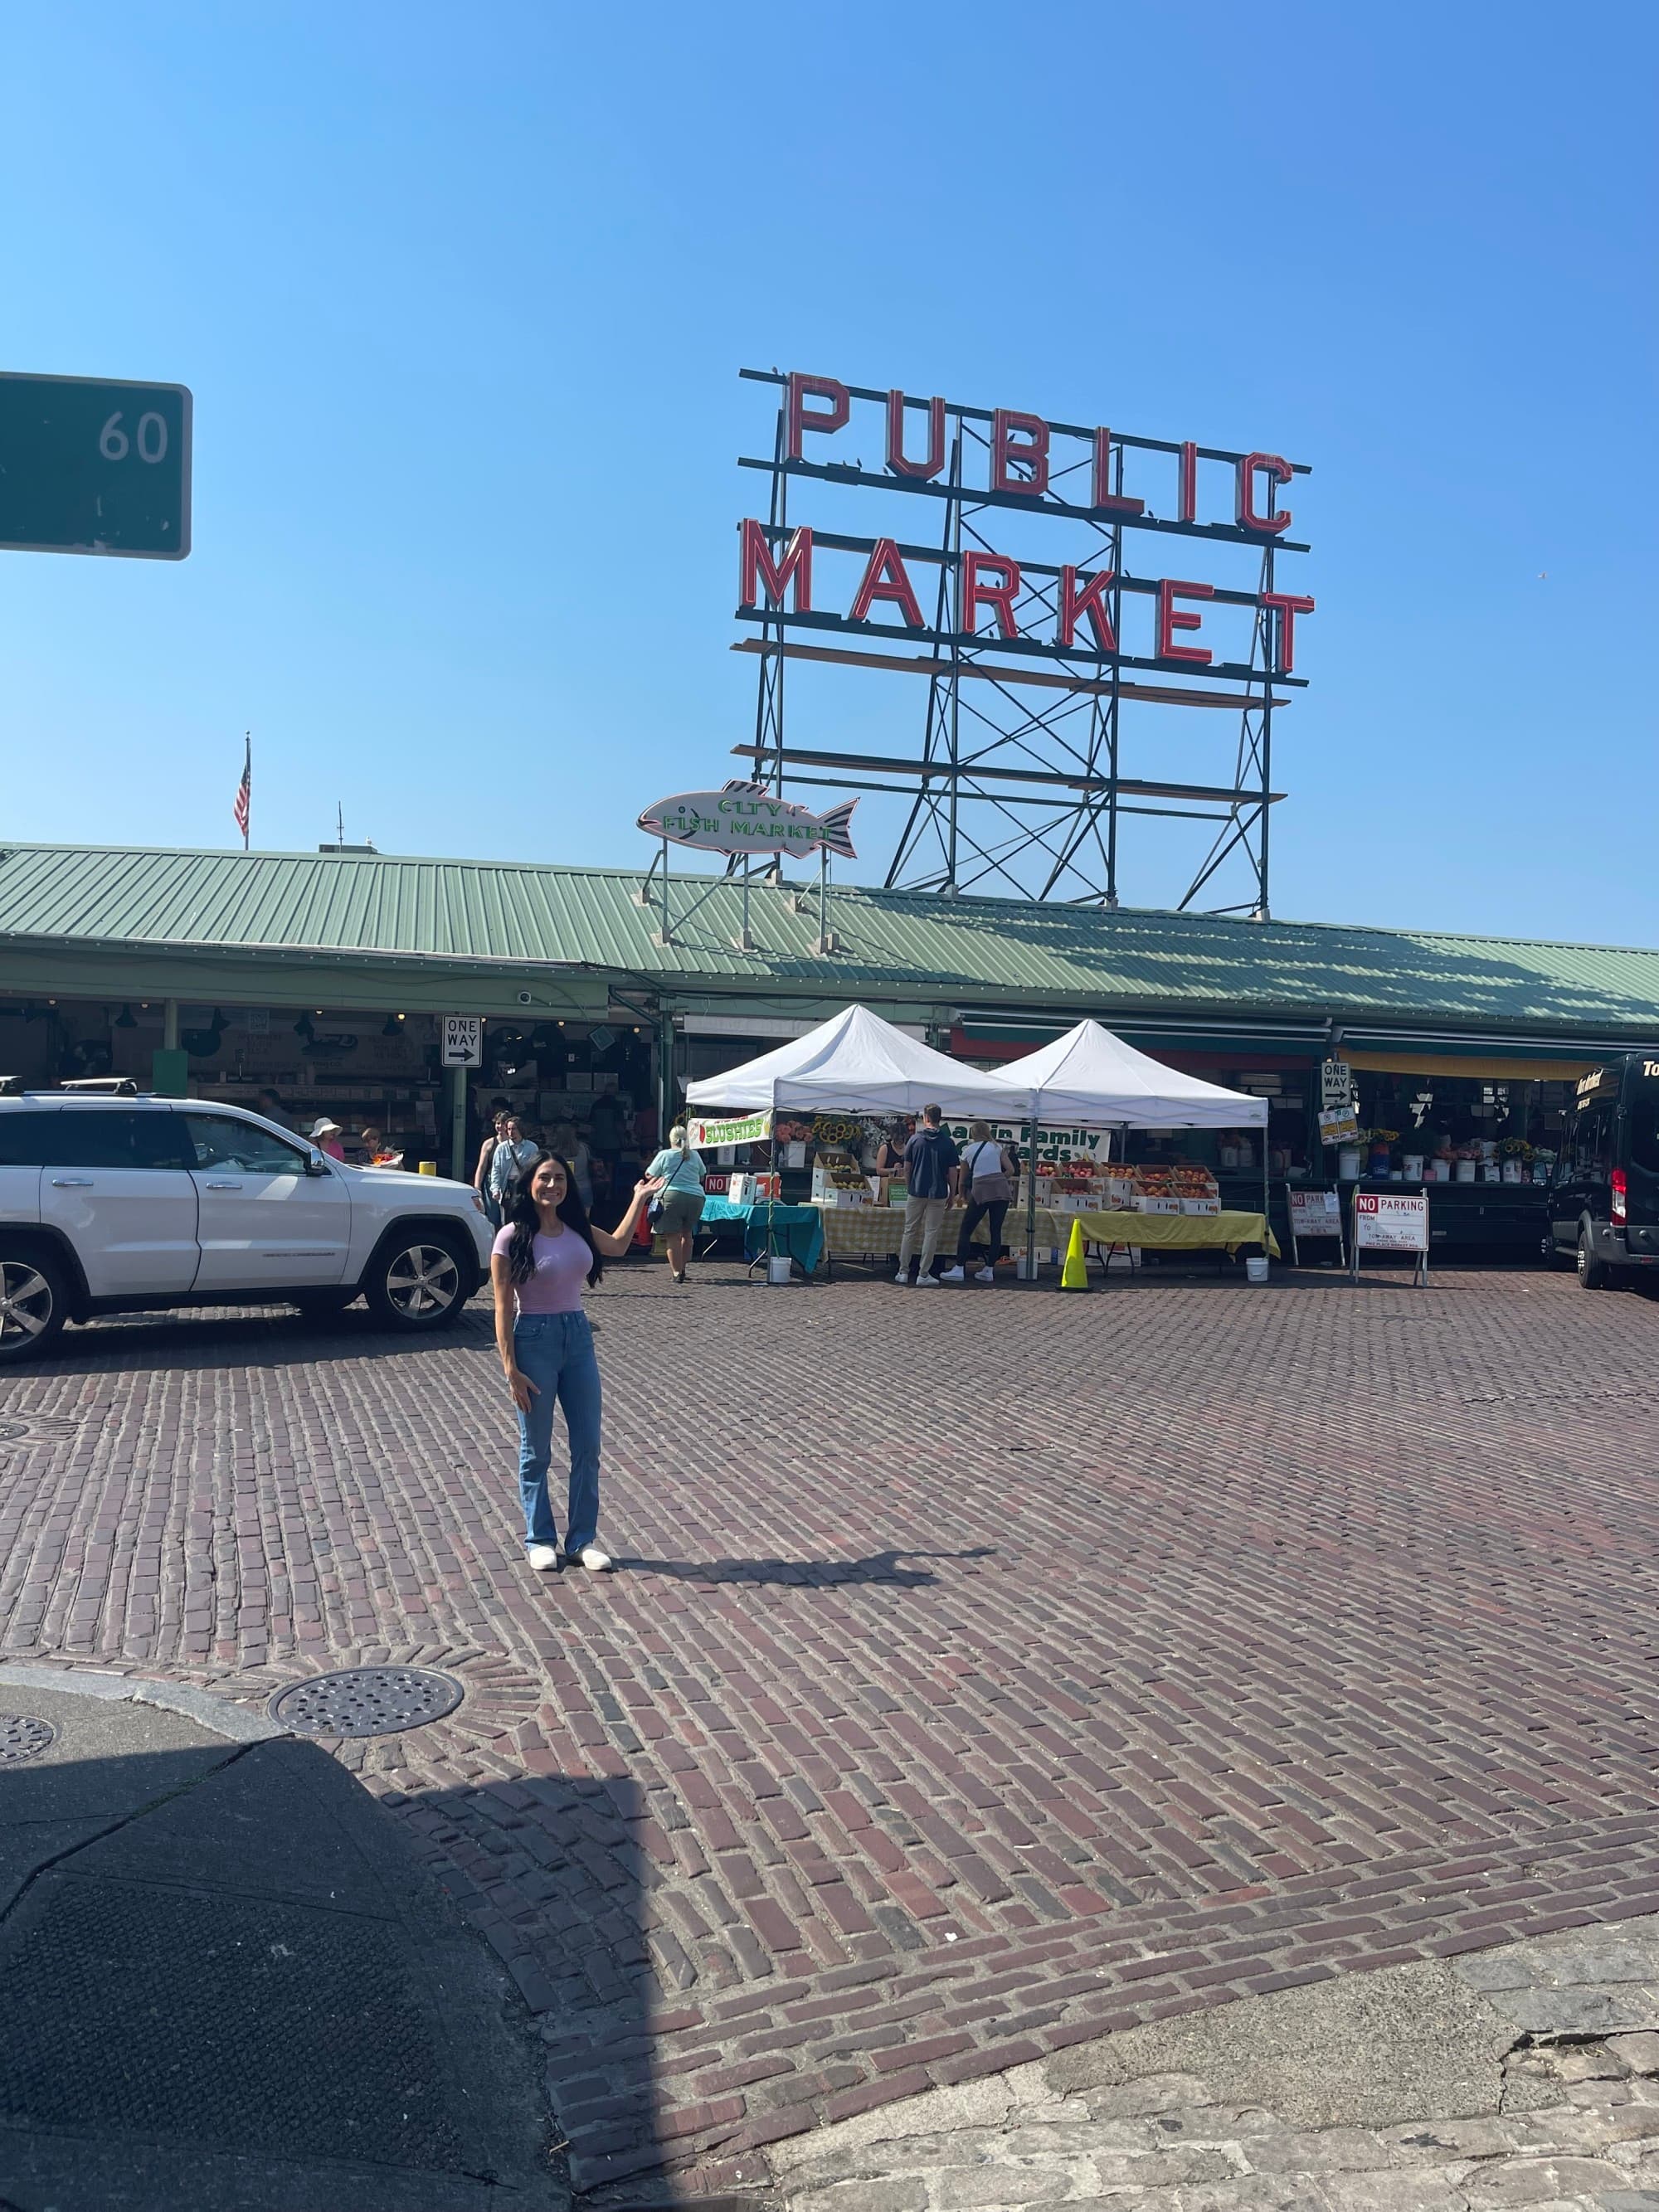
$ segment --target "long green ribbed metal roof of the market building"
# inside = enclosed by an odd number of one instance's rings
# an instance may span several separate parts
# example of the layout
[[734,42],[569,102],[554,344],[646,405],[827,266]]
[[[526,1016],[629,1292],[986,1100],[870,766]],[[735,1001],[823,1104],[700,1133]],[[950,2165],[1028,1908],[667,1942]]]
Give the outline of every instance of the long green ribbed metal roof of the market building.
[[[712,880],[675,878],[677,911]],[[637,869],[502,860],[13,845],[0,849],[0,984],[7,942],[168,947],[473,969],[551,962],[721,998],[1252,1011],[1659,1037],[1659,951],[834,887],[841,949],[821,958],[816,885],[803,885],[750,894],[745,953],[734,949],[737,885],[714,880],[664,947],[659,909],[639,905],[644,883]]]

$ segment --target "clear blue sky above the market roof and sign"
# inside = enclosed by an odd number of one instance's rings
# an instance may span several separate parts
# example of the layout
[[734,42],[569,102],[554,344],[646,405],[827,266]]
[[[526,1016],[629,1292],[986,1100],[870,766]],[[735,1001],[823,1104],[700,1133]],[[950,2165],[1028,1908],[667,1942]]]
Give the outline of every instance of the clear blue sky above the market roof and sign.
[[[230,845],[252,728],[259,845],[343,803],[644,865],[639,807],[750,734],[737,369],[783,365],[1312,462],[1274,911],[1659,942],[1655,42],[1533,0],[15,11],[0,367],[188,383],[197,458],[188,562],[0,557],[0,836]],[[916,750],[909,677],[799,699],[796,741]],[[1179,721],[1126,772],[1208,781]],[[1126,845],[1126,902],[1181,858]]]

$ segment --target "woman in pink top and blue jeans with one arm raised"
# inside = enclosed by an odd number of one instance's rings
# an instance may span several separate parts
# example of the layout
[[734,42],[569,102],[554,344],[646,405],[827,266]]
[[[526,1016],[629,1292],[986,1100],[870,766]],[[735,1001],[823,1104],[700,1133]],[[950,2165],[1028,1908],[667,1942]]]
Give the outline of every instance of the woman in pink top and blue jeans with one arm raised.
[[[588,1221],[566,1161],[551,1157],[520,1181],[495,1234],[489,1279],[495,1292],[495,1347],[518,1407],[518,1489],[524,1500],[524,1544],[542,1573],[580,1559],[593,1573],[611,1566],[599,1551],[599,1363],[582,1312],[582,1285],[597,1283],[606,1259],[622,1259],[639,1208],[657,1183],[635,1183],[615,1234]],[[564,1407],[571,1440],[571,1495],[564,1546],[546,1495],[553,1460],[553,1405]]]

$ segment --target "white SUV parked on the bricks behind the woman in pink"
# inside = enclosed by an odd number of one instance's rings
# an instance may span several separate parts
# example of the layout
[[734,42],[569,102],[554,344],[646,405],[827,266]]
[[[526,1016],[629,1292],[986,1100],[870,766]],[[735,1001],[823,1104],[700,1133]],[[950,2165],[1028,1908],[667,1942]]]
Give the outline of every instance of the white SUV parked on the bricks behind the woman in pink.
[[274,1121],[197,1099],[0,1097],[0,1365],[64,1321],[283,1298],[453,1321],[489,1270],[467,1183],[343,1168]]

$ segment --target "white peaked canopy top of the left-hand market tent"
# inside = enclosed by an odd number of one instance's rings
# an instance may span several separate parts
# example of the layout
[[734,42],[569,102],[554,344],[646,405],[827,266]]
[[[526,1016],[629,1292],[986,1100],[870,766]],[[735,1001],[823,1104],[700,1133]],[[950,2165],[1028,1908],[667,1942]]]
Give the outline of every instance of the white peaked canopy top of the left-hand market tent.
[[1009,1113],[998,1077],[947,1060],[869,1006],[847,1006],[774,1053],[688,1084],[686,1099],[748,1113],[920,1113],[922,1106],[942,1106],[953,1119]]

